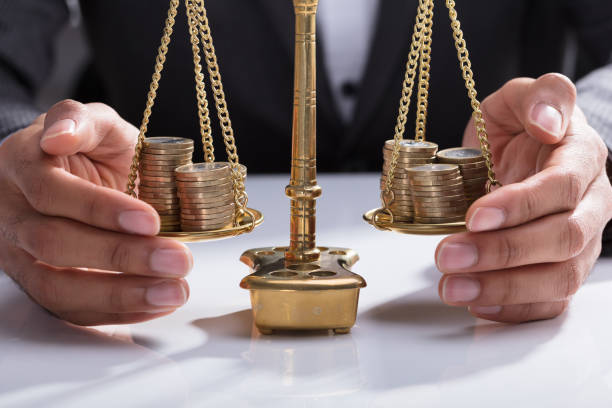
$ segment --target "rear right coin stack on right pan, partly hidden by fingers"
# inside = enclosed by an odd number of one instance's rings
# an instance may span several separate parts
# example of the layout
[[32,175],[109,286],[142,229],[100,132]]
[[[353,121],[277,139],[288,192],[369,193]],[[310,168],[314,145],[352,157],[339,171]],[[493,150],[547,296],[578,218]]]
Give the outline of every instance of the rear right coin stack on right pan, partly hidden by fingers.
[[440,163],[459,166],[468,207],[486,193],[489,171],[482,151],[456,147],[438,152],[437,157]]

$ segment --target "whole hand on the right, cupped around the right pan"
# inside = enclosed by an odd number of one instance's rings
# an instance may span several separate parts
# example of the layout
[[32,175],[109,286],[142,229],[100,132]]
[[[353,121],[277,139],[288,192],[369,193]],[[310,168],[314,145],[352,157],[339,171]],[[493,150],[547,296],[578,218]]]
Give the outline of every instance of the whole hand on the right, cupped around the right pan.
[[[499,322],[561,314],[601,252],[612,218],[607,148],[559,74],[508,82],[482,103],[503,187],[469,209],[469,232],[436,250],[440,297]],[[464,145],[479,147],[473,120]]]

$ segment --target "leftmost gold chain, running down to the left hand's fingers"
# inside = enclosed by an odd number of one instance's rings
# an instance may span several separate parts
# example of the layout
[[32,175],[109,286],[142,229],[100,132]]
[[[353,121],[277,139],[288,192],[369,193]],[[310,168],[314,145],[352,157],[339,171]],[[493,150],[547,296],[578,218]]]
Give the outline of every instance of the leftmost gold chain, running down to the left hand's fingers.
[[153,105],[155,104],[155,98],[157,97],[157,89],[159,88],[159,80],[161,79],[161,73],[164,70],[164,63],[166,62],[166,54],[168,53],[168,45],[172,38],[173,27],[176,19],[177,10],[179,7],[179,0],[171,0],[170,8],[168,10],[168,17],[166,18],[164,34],[161,39],[161,45],[157,51],[157,58],[155,59],[155,72],[151,80],[149,87],[149,93],[147,95],[147,104],[145,107],[144,115],[142,118],[142,124],[140,125],[140,133],[138,134],[138,141],[134,148],[134,157],[132,157],[132,164],[130,166],[130,174],[128,176],[128,183],[126,188],[126,194],[136,197],[136,178],[138,177],[138,167],[140,165],[140,153],[142,151],[142,144],[144,143],[145,135],[149,126],[149,118]]

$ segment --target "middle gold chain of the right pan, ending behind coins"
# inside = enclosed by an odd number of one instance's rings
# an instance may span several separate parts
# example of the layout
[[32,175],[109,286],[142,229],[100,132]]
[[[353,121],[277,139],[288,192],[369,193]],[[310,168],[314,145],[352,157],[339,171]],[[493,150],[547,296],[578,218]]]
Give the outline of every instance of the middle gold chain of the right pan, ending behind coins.
[[427,12],[425,15],[425,21],[423,26],[423,35],[421,37],[421,58],[419,62],[419,93],[414,139],[420,142],[425,140],[425,130],[427,127],[427,98],[429,97],[429,70],[431,63],[433,9],[434,2],[433,0],[430,0],[427,5]]

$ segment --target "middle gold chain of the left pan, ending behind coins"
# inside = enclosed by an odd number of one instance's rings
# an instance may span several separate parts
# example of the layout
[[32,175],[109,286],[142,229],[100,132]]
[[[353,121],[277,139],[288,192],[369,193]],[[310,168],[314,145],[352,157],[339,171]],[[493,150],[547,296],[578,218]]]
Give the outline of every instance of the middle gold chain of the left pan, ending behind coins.
[[215,161],[215,148],[213,146],[212,129],[210,127],[210,113],[208,110],[208,99],[206,98],[206,85],[204,84],[204,74],[202,74],[202,58],[200,57],[201,48],[198,38],[199,30],[197,25],[197,11],[193,0],[185,0],[187,9],[187,22],[189,24],[189,34],[191,36],[191,49],[193,51],[193,64],[196,81],[196,94],[198,100],[198,116],[200,118],[200,135],[204,151],[204,161],[212,163]]

